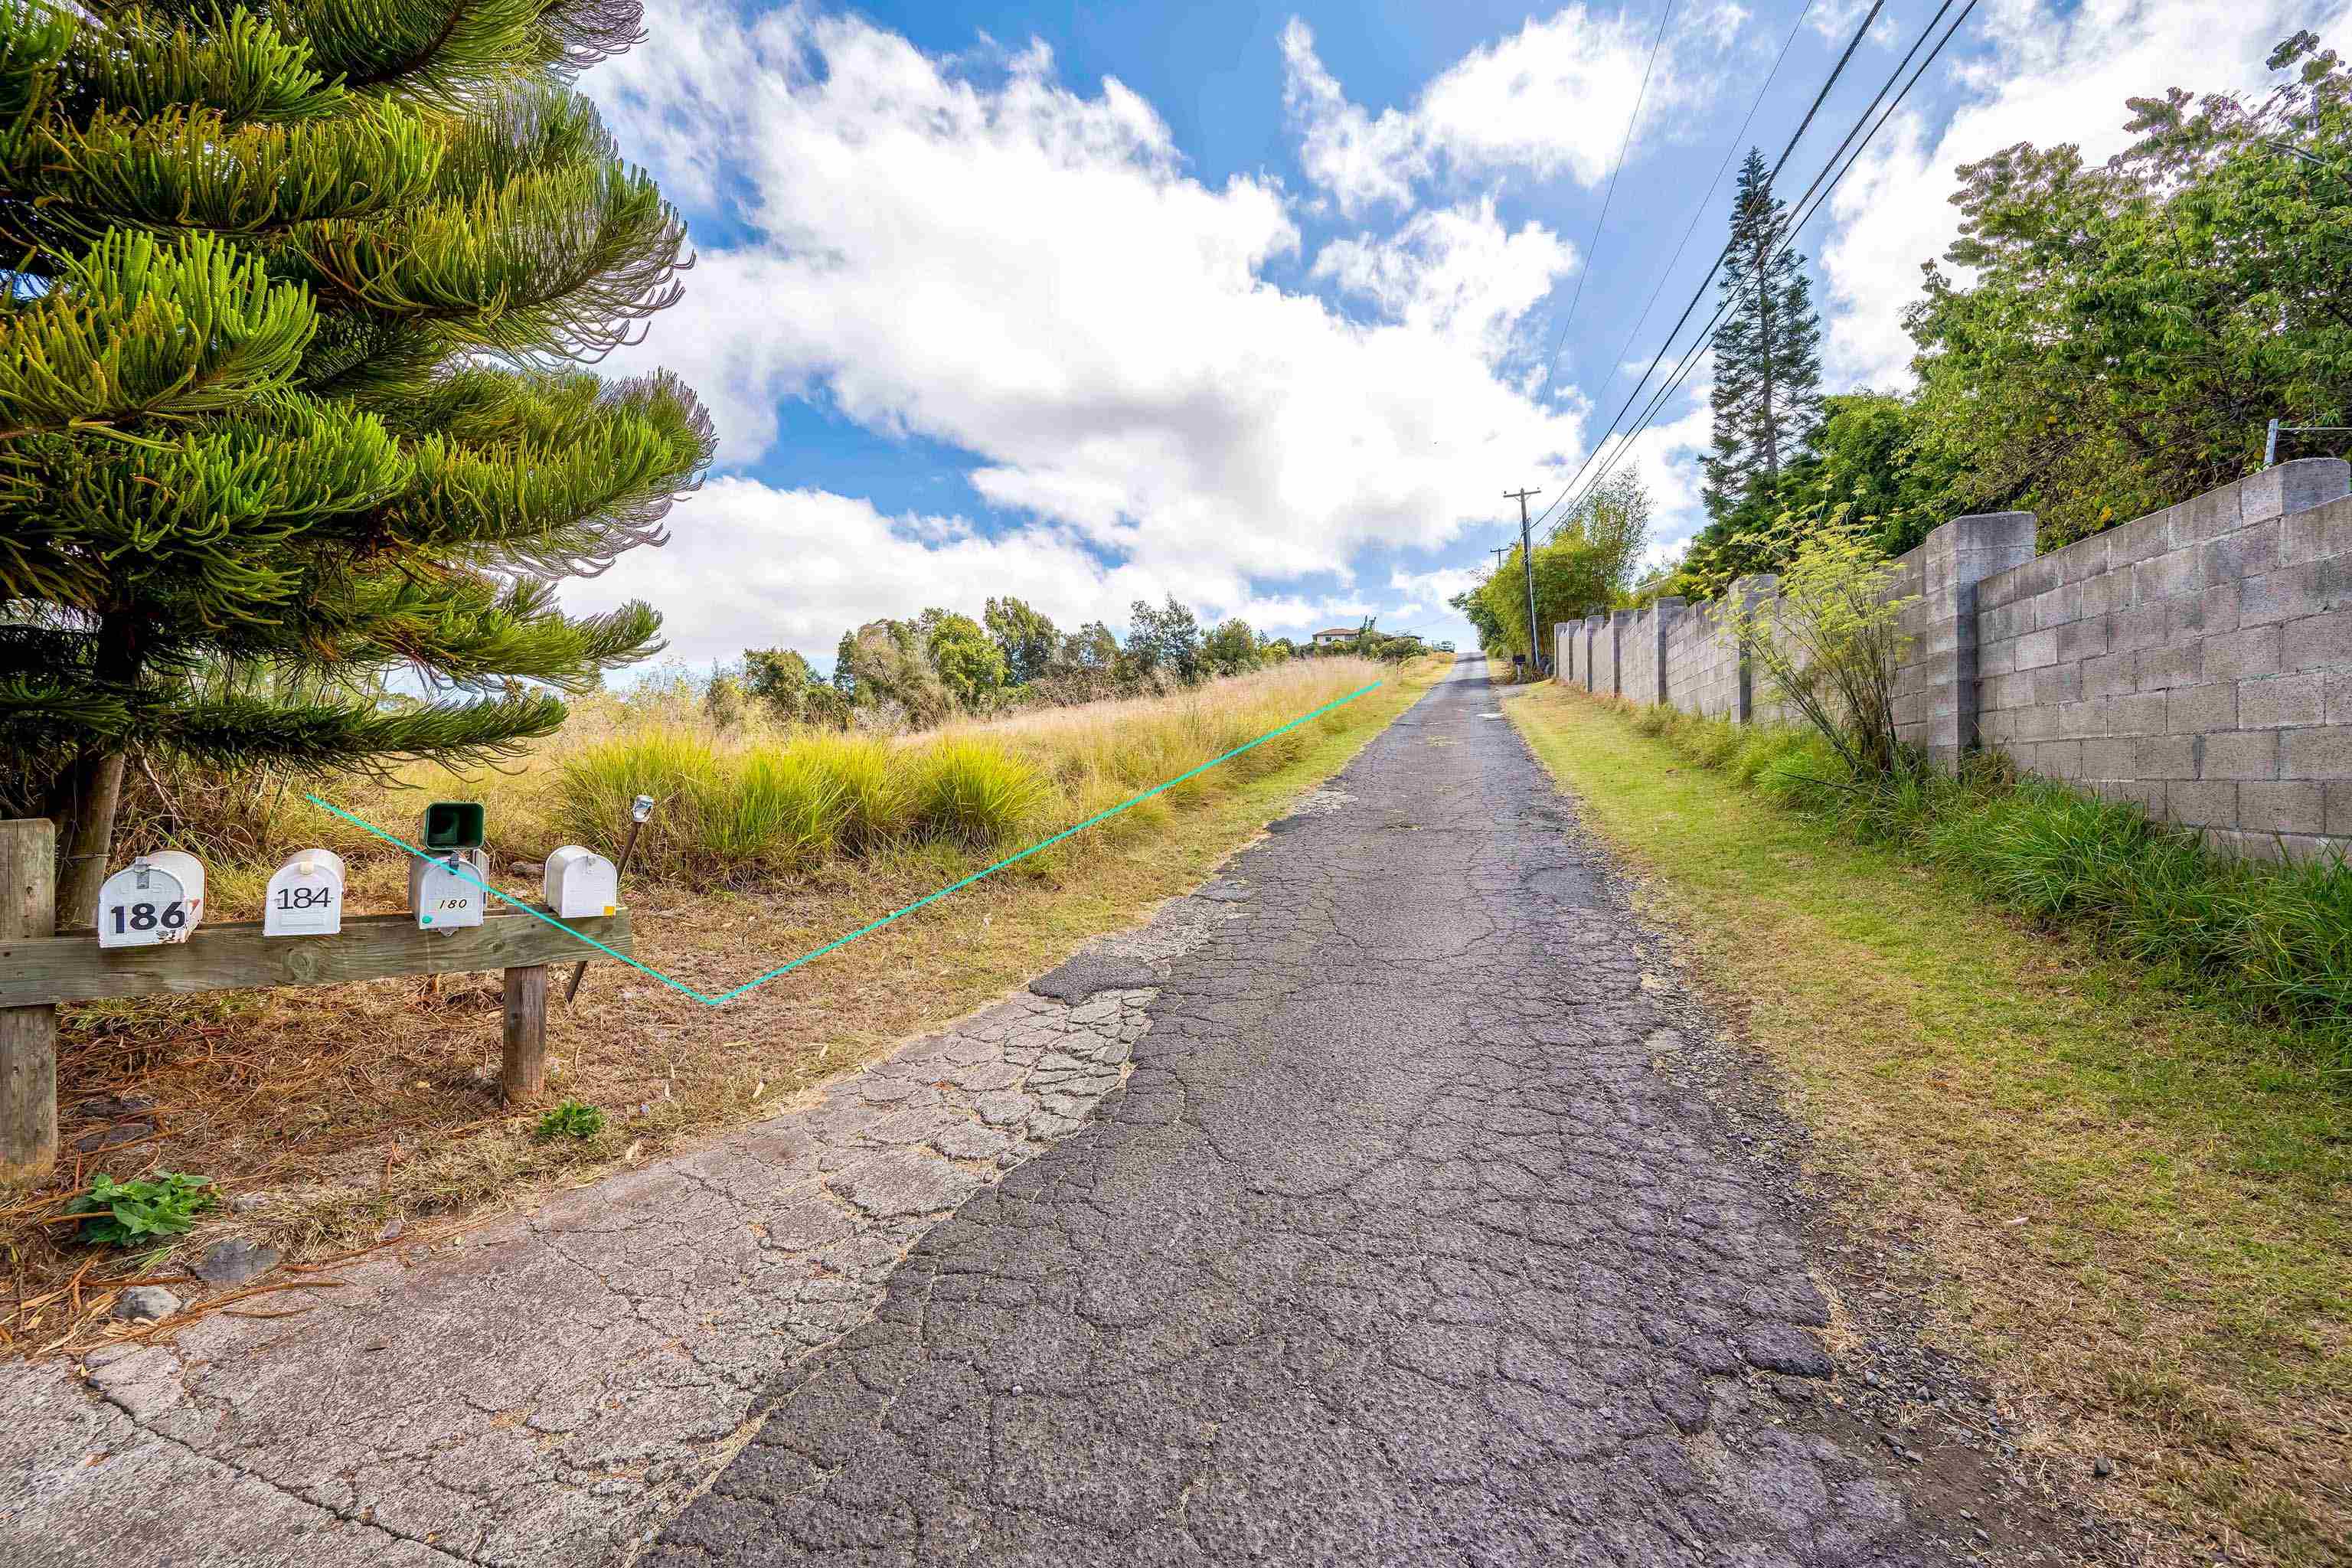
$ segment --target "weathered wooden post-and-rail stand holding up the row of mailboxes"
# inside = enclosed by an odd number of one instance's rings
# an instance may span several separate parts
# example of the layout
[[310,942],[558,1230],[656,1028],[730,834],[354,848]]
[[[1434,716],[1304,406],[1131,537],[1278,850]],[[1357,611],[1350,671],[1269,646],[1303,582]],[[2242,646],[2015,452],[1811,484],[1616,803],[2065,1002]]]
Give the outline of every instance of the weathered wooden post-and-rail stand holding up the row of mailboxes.
[[[59,1001],[503,969],[499,1088],[517,1103],[548,1086],[548,964],[607,957],[513,905],[452,931],[423,931],[414,914],[355,914],[339,936],[266,938],[254,919],[202,924],[183,943],[101,950],[89,931],[52,936],[54,856],[47,818],[0,823],[0,1187],[38,1182],[56,1164]],[[630,952],[628,910],[564,924]]]

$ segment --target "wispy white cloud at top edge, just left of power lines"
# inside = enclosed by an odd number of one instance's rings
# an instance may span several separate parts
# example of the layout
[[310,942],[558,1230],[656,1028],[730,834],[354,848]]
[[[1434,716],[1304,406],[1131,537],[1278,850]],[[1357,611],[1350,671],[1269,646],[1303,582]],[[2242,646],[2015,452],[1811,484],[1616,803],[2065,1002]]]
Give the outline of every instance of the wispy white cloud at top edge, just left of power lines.
[[[1722,42],[1743,16],[1738,7],[1717,7],[1672,42]],[[1282,63],[1284,106],[1301,132],[1298,160],[1345,214],[1406,207],[1414,186],[1439,169],[1472,179],[1569,174],[1597,186],[1616,165],[1635,99],[1649,127],[1700,89],[1670,45],[1658,52],[1642,96],[1651,38],[1646,16],[1599,16],[1571,5],[1472,49],[1435,75],[1409,108],[1374,115],[1348,101],[1315,54],[1315,33],[1291,16],[1282,28]]]

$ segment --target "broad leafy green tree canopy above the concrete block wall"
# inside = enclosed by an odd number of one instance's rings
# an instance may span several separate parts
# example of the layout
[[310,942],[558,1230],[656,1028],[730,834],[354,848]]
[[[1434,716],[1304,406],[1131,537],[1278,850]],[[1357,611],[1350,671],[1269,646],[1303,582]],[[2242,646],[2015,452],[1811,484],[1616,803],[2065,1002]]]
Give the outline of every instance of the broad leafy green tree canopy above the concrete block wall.
[[[1828,397],[1778,475],[1710,487],[1658,588],[1715,597],[1825,529],[1893,555],[1966,512],[2034,512],[2051,550],[2253,473],[2272,418],[2352,425],[2352,73],[2312,33],[2267,63],[2256,99],[2129,99],[2103,165],[1962,165],[1959,240],[1907,313],[1917,388]],[[2314,451],[2343,437],[2279,458]]]

